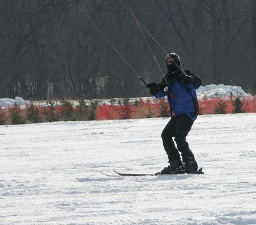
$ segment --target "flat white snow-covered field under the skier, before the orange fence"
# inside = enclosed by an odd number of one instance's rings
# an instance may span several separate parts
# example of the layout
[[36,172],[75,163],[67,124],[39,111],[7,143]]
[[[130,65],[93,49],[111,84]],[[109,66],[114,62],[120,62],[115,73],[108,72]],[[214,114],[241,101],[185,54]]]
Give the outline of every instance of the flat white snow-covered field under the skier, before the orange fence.
[[169,118],[0,126],[0,224],[256,224],[256,114],[199,116],[205,175],[167,166]]

